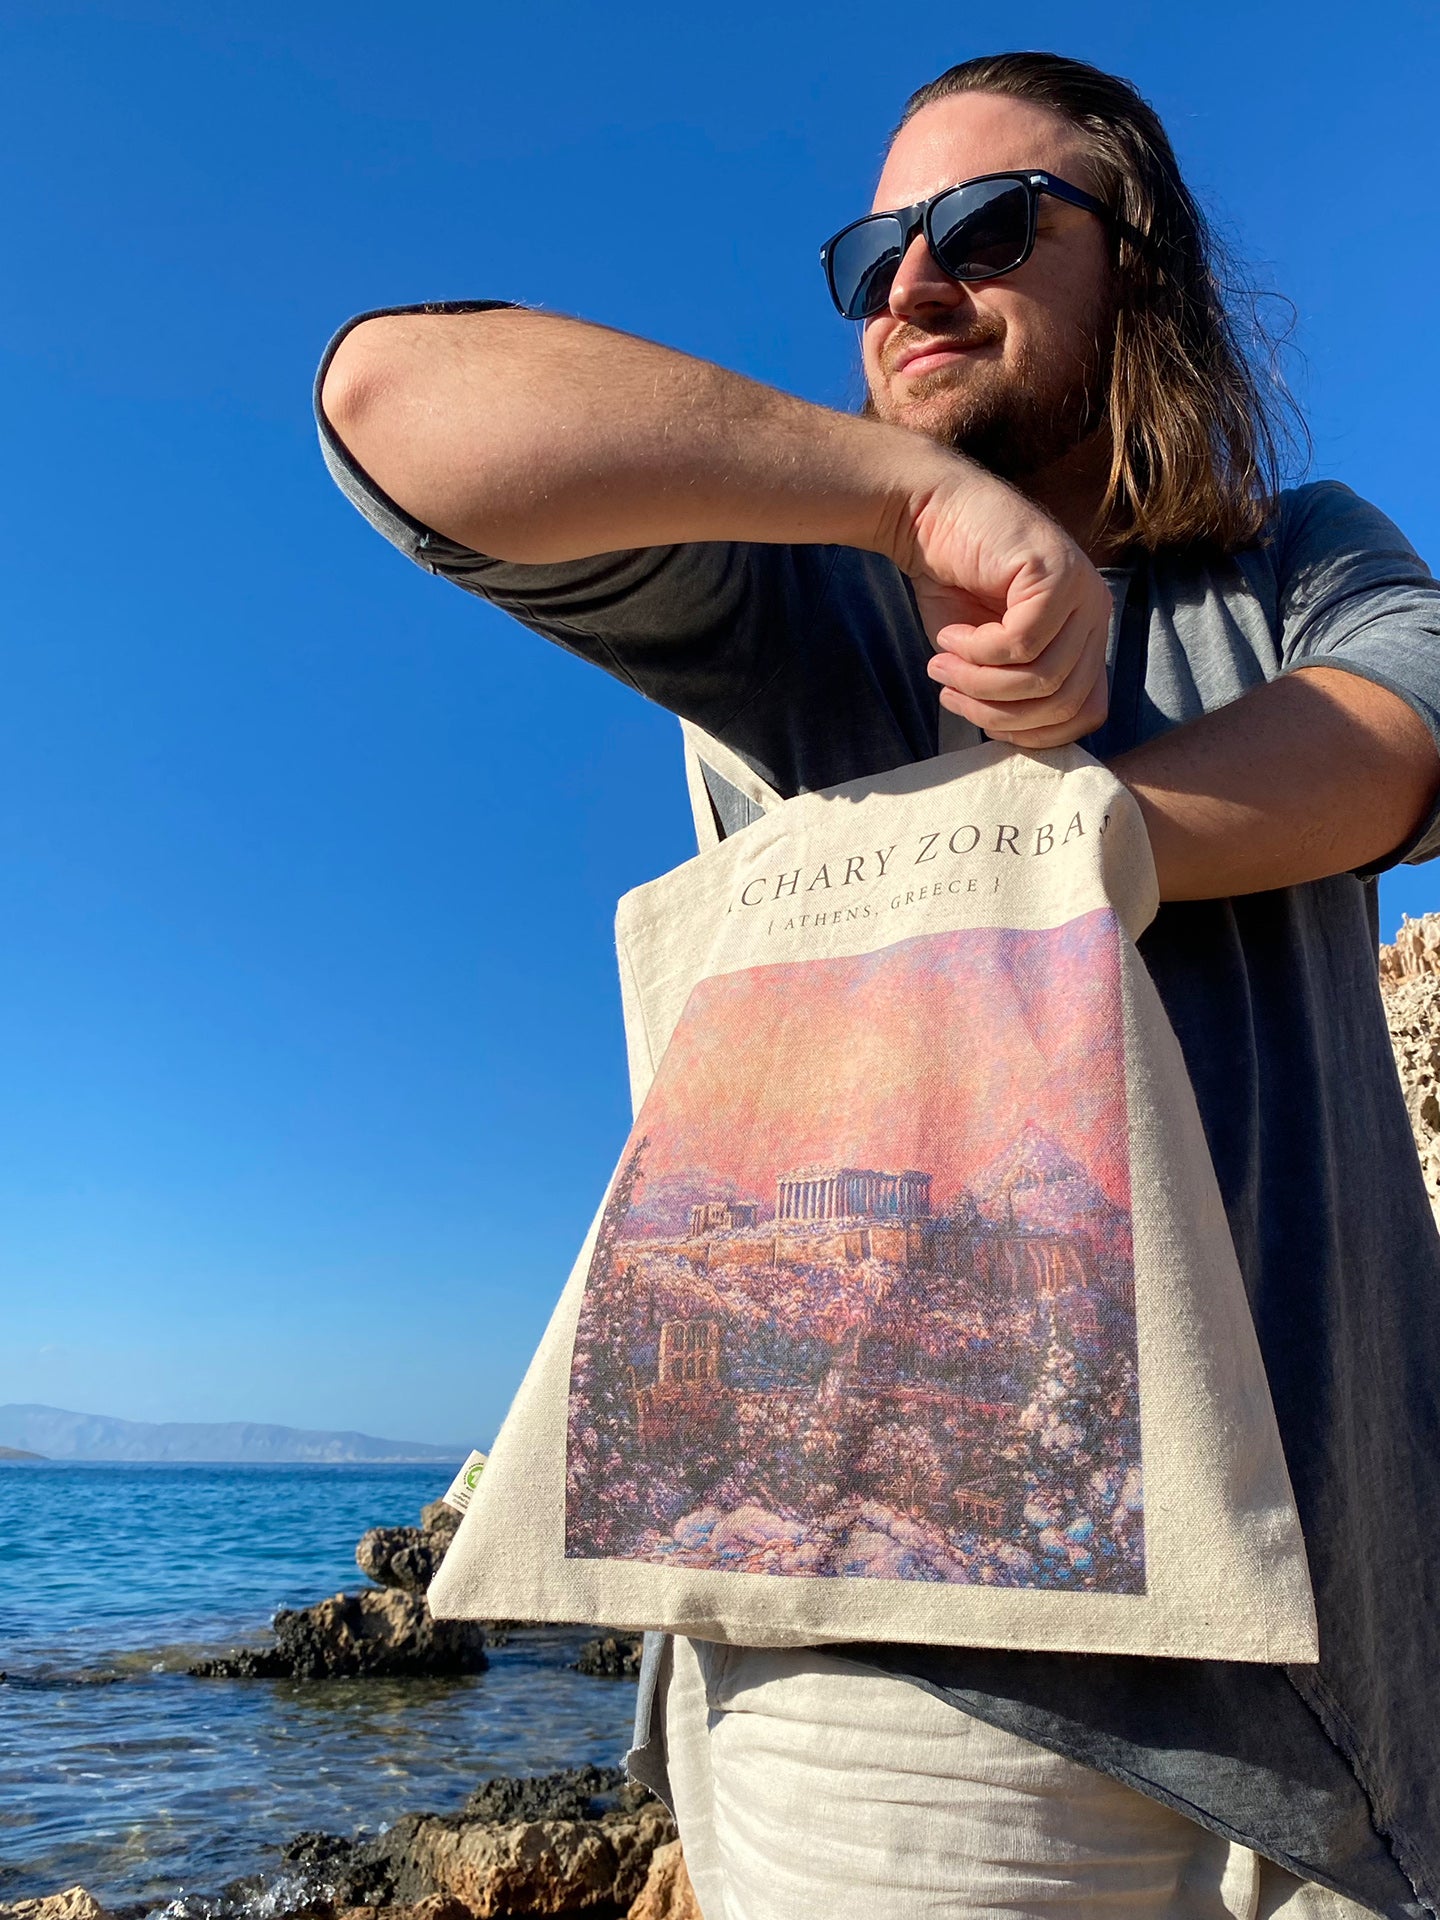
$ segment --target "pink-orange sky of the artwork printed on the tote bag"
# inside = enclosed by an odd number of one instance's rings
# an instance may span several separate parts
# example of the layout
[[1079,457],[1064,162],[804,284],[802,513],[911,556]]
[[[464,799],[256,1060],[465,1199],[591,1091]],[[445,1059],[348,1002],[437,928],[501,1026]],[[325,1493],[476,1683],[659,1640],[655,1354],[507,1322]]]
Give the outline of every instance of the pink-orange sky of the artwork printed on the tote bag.
[[695,1173],[770,1213],[776,1177],[799,1167],[916,1167],[945,1212],[1027,1119],[1129,1208],[1106,910],[701,981],[637,1123],[651,1146],[636,1198],[645,1177]]

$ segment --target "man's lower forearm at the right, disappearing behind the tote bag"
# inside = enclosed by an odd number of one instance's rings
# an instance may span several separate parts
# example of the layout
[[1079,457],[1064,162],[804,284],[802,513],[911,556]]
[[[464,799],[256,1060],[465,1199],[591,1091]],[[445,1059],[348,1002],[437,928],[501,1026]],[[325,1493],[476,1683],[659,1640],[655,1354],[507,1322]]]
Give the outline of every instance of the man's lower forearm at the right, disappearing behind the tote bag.
[[1386,687],[1311,666],[1119,755],[1162,900],[1294,887],[1382,860],[1421,824],[1440,756]]

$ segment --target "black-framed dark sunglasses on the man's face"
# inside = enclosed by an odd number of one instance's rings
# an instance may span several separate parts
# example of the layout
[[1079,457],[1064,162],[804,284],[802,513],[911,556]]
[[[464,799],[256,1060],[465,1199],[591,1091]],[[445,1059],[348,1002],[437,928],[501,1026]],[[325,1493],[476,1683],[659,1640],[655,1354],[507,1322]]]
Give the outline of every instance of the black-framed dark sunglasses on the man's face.
[[868,321],[887,305],[895,271],[920,232],[935,265],[952,280],[996,280],[1023,267],[1035,248],[1041,194],[1110,219],[1104,202],[1052,173],[983,173],[912,207],[866,213],[841,227],[820,248],[841,319]]

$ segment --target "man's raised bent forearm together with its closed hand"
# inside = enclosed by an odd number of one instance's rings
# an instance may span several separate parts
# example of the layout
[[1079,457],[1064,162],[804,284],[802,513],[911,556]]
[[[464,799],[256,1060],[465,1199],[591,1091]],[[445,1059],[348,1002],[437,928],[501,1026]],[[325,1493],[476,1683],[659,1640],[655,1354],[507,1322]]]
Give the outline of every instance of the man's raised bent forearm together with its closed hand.
[[1104,580],[1041,507],[922,434],[520,309],[363,321],[321,405],[399,507],[493,559],[868,547],[910,576],[935,645],[966,655],[935,662],[947,705],[989,701],[981,724],[1037,747],[1104,718]]

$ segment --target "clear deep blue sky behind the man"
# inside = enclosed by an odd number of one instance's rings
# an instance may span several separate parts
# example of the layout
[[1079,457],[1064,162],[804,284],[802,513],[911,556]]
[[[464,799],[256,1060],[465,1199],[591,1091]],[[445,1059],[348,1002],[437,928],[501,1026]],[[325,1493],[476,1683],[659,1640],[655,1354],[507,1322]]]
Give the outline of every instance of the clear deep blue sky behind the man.
[[10,0],[0,1400],[484,1444],[624,1137],[674,726],[330,488],[349,313],[509,296],[847,403],[820,238],[912,86],[1052,46],[1165,115],[1296,303],[1313,472],[1434,561],[1440,15],[904,12]]

